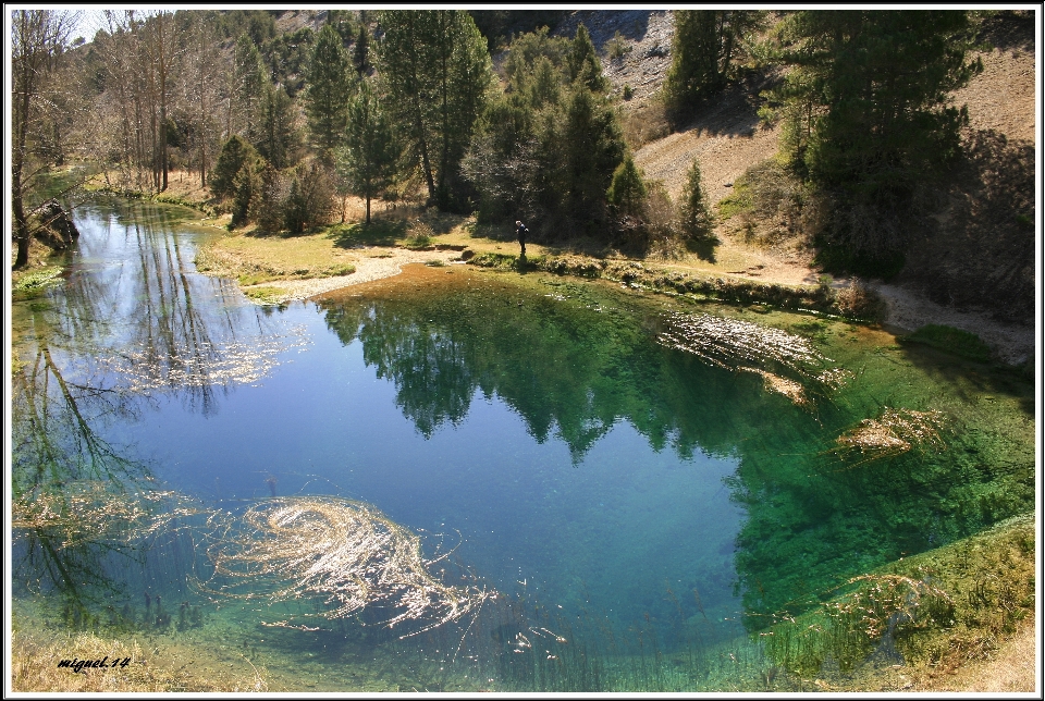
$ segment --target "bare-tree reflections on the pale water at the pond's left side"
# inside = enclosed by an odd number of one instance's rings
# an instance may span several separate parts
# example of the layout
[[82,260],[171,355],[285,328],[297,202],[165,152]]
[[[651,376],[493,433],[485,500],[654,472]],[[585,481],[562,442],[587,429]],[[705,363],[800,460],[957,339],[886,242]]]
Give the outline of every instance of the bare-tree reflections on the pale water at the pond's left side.
[[169,208],[125,207],[85,208],[85,262],[62,288],[14,309],[14,581],[81,608],[130,586],[127,559],[148,587],[149,549],[190,566],[184,527],[201,513],[108,429],[140,420],[160,396],[213,414],[217,392],[256,382],[302,343],[244,304],[234,283],[190,274]]

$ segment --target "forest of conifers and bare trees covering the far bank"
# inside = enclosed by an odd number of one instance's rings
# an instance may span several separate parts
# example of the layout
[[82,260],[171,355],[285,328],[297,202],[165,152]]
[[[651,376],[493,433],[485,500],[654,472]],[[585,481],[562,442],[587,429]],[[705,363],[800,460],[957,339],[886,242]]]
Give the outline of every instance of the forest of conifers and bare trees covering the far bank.
[[[568,13],[332,10],[318,29],[279,30],[286,13],[104,11],[87,41],[73,13],[15,11],[15,268],[41,229],[34,193],[72,162],[115,190],[162,193],[190,172],[233,227],[300,233],[343,221],[357,196],[367,223],[372,201],[417,198],[480,223],[525,219],[545,242],[639,256],[714,244],[696,161],[677,201],[643,177],[627,90],[610,89],[583,24],[549,29]],[[783,125],[777,162],[817,262],[895,274],[966,155],[968,113],[948,95],[982,70],[971,52],[989,13],[674,14],[657,97],[671,130],[776,71],[760,118]],[[1015,212],[1021,241],[1029,207]]]

